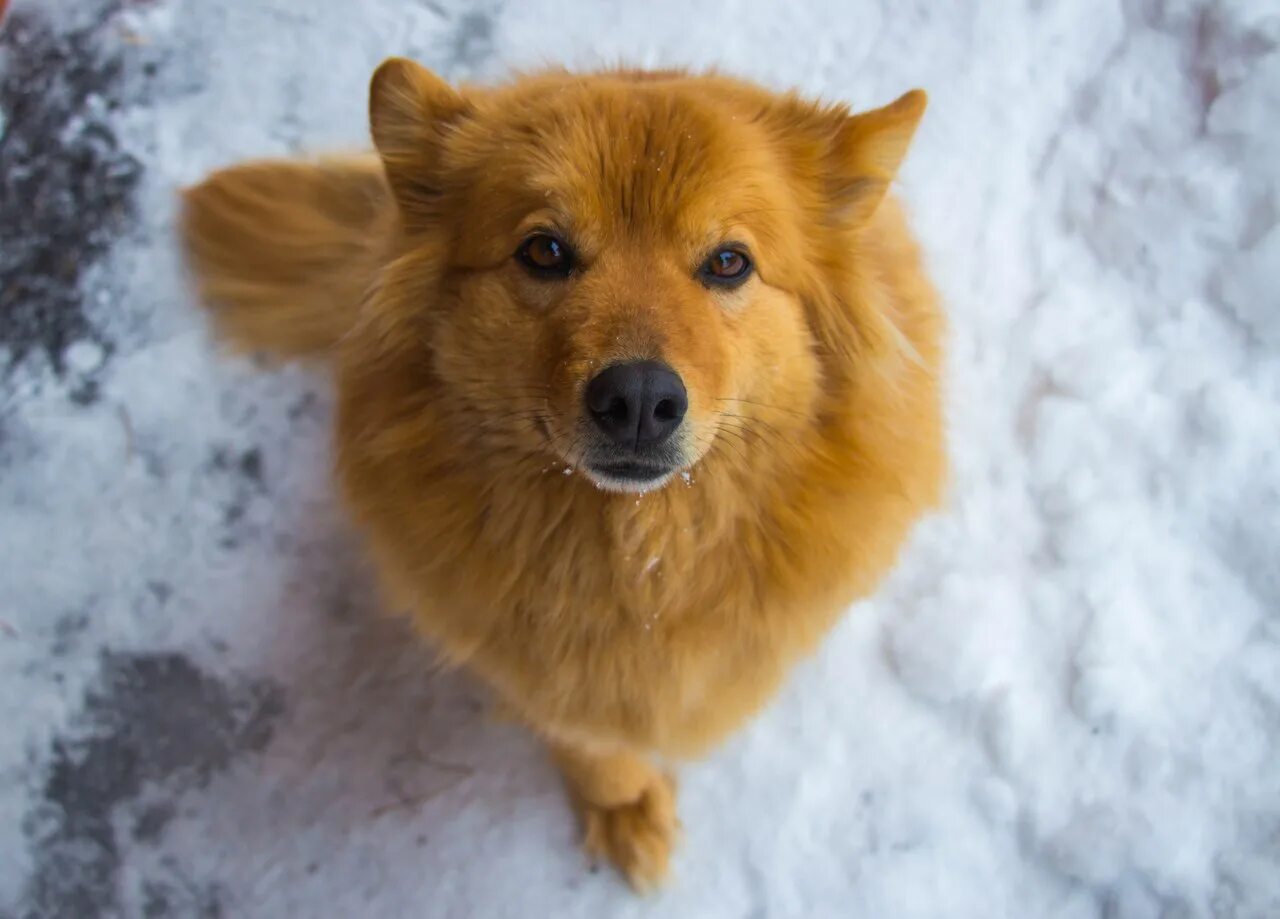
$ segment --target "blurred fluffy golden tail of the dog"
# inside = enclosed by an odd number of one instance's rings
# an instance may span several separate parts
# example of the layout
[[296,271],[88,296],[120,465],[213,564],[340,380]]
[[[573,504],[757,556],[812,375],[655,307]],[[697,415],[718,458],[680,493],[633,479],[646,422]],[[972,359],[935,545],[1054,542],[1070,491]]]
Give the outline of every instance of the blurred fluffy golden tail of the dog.
[[246,163],[186,189],[183,244],[219,334],[280,358],[329,352],[356,321],[392,211],[375,156]]

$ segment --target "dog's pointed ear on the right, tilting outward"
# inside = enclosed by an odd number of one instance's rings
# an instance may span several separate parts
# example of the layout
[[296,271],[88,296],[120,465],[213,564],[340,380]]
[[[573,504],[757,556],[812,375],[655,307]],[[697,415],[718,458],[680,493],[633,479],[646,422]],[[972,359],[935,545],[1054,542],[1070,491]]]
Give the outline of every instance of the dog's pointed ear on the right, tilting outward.
[[844,119],[829,152],[828,193],[841,221],[865,223],[897,174],[928,97],[911,90],[883,109]]

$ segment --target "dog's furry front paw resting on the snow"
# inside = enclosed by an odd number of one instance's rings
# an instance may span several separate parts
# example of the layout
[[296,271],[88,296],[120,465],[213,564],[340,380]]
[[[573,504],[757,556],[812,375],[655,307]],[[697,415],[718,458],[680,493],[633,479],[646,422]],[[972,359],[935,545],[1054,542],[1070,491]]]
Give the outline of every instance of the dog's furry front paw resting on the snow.
[[584,804],[582,819],[588,854],[612,861],[636,891],[652,891],[667,877],[680,835],[676,788],[669,778],[655,776],[628,804]]

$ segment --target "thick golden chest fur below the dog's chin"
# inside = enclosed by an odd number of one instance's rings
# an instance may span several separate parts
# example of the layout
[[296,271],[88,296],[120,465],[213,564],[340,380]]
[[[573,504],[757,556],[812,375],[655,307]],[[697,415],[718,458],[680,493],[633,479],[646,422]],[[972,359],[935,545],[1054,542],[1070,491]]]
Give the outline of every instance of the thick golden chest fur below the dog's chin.
[[558,470],[415,485],[355,483],[362,495],[422,498],[411,526],[403,513],[401,525],[367,520],[384,570],[443,653],[545,732],[700,750],[760,704],[836,612],[818,596],[827,590],[782,594],[776,550],[794,540],[712,474],[625,499]]

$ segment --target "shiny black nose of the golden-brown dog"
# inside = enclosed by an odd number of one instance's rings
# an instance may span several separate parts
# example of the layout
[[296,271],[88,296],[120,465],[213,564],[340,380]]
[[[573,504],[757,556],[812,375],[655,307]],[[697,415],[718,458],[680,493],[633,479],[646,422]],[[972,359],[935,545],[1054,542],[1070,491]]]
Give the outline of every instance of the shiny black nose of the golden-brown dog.
[[685,383],[658,361],[614,364],[586,384],[586,411],[620,447],[658,447],[689,411]]

